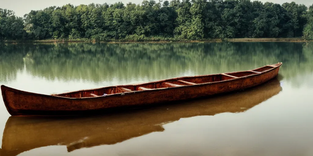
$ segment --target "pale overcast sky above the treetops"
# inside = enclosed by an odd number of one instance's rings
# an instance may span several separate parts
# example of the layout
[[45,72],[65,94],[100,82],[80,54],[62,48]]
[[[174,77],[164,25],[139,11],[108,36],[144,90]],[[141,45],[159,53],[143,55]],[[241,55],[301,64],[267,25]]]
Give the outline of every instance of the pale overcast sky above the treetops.
[[[24,14],[30,12],[31,10],[40,10],[50,6],[63,6],[65,4],[71,3],[73,5],[80,4],[90,4],[90,3],[115,3],[123,2],[124,4],[128,2],[139,4],[143,0],[0,0],[0,8],[13,10],[17,16],[23,17]],[[158,1],[158,0],[156,0]],[[164,0],[163,0],[164,1]],[[169,0],[170,1],[170,0]],[[297,4],[305,4],[306,6],[312,5],[312,0],[260,0],[262,2],[274,2],[282,4],[284,2],[296,2]]]

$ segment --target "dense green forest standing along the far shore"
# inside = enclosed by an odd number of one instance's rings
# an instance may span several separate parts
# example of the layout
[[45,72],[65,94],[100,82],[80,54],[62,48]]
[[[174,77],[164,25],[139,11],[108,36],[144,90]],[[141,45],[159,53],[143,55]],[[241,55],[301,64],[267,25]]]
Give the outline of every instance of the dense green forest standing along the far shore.
[[144,0],[48,7],[24,17],[0,9],[0,40],[313,39],[313,5],[250,0]]

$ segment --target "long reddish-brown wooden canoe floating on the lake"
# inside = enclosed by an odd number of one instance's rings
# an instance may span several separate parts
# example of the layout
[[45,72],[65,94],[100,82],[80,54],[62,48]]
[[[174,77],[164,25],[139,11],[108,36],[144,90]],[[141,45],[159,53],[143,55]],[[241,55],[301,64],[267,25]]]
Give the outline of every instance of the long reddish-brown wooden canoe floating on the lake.
[[278,75],[282,63],[254,70],[187,76],[136,85],[117,85],[43,95],[2,85],[4,104],[12,116],[77,115],[88,111],[189,100],[260,85]]

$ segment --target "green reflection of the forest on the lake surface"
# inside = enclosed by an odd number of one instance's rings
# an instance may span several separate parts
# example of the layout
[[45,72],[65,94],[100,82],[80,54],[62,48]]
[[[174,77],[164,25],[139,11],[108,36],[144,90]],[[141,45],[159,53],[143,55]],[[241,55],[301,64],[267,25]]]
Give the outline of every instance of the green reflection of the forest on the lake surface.
[[313,44],[288,42],[1,44],[0,81],[26,68],[60,80],[149,80],[254,69],[283,62],[291,79],[312,73]]

